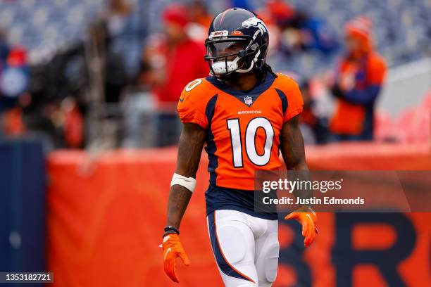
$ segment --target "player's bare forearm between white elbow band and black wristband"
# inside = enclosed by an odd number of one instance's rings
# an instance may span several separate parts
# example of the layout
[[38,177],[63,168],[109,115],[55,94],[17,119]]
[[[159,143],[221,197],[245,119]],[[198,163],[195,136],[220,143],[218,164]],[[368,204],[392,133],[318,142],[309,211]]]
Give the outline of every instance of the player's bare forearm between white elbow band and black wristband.
[[180,185],[170,187],[168,199],[168,226],[180,228],[181,219],[187,205],[189,205],[192,192]]

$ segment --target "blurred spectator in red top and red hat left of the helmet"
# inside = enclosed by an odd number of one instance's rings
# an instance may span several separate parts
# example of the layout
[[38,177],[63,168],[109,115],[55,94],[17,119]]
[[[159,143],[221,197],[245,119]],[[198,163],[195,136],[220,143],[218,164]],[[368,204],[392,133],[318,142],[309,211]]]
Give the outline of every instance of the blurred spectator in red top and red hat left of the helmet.
[[176,106],[182,89],[193,79],[206,77],[205,48],[191,39],[185,30],[187,11],[171,4],[163,11],[164,33],[152,38],[143,55],[142,83],[149,84],[158,103],[157,146],[175,144],[179,136]]

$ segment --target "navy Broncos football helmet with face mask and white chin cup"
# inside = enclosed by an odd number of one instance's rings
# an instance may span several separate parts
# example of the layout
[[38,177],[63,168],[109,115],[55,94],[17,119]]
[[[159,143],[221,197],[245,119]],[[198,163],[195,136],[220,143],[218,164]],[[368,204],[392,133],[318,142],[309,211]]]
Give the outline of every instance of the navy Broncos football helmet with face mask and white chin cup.
[[268,42],[268,28],[263,20],[251,11],[230,8],[216,15],[209,27],[205,60],[215,77],[261,70]]

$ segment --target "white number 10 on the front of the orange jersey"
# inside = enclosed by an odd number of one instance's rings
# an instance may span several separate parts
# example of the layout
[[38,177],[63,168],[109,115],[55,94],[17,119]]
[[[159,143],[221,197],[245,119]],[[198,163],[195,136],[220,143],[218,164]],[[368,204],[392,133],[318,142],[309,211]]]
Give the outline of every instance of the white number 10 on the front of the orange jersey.
[[[259,128],[265,131],[265,146],[263,147],[262,154],[259,154],[256,149],[256,134]],[[274,129],[268,119],[265,117],[255,117],[253,120],[250,120],[246,127],[245,139],[241,139],[238,118],[227,120],[227,129],[229,129],[230,132],[234,167],[244,167],[244,162],[242,160],[243,142],[245,142],[245,153],[254,165],[263,166],[268,164],[274,139]]]

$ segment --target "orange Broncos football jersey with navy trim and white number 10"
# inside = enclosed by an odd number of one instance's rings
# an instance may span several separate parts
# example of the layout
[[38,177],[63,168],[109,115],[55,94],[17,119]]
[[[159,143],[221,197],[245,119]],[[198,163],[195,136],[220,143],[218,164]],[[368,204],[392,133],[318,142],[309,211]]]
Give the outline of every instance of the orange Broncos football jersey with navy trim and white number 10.
[[251,91],[227,87],[215,77],[195,79],[182,91],[182,122],[206,129],[211,186],[254,190],[256,170],[277,170],[280,131],[302,111],[299,87],[286,75],[267,73]]

